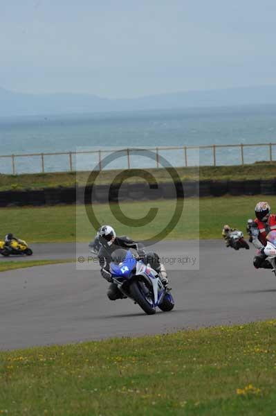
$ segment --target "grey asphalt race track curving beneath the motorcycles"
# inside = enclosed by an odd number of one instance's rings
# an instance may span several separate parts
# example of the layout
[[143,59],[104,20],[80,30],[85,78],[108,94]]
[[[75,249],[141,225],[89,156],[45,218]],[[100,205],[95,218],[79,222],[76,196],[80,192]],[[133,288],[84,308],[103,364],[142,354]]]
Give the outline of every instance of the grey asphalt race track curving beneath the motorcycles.
[[[73,244],[31,245],[30,259],[70,259]],[[163,241],[161,256],[198,255],[195,241]],[[77,257],[88,255],[87,245]],[[196,254],[197,253],[197,254]],[[255,250],[235,252],[223,241],[202,241],[195,266],[168,266],[175,309],[147,316],[131,300],[111,302],[98,266],[86,261],[0,273],[0,348],[75,343],[111,336],[139,336],[176,329],[275,318],[276,278],[255,270]],[[17,257],[21,260],[23,257]],[[0,261],[6,259],[0,259]],[[168,260],[169,261],[169,260]],[[92,269],[91,269],[92,268]],[[188,269],[192,270],[188,270]],[[87,269],[87,270],[86,270]]]

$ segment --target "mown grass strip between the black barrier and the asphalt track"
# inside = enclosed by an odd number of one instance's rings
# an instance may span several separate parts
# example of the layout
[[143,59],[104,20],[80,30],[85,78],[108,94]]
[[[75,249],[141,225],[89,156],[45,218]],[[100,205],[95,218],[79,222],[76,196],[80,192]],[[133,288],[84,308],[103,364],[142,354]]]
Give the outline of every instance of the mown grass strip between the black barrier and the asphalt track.
[[[242,229],[246,221],[254,217],[257,201],[268,200],[276,211],[276,196],[223,196],[221,198],[187,198],[178,224],[167,239],[220,239],[223,224]],[[158,215],[149,224],[140,227],[124,225],[114,218],[109,205],[94,205],[95,218],[99,223],[112,224],[118,235],[129,235],[135,239],[149,238],[166,227],[168,217],[172,217],[175,202],[153,200],[141,202],[122,202],[120,208],[126,216],[141,218],[152,207],[158,208]],[[95,231],[89,222],[83,205],[55,207],[15,207],[0,209],[0,223],[3,234],[12,232],[26,239],[28,243],[90,241]],[[77,219],[77,232],[76,232]]]

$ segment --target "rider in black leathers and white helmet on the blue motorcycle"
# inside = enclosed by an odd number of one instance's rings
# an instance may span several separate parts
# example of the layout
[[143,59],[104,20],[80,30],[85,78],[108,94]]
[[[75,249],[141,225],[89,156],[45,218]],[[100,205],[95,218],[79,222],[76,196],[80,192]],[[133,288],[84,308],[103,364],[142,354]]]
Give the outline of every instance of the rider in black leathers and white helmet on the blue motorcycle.
[[110,225],[102,225],[98,231],[98,236],[101,244],[100,251],[98,252],[98,260],[101,267],[102,277],[110,283],[109,290],[107,292],[107,296],[110,300],[122,299],[124,297],[124,295],[122,295],[119,291],[117,284],[113,283],[109,268],[111,256],[113,252],[118,249],[125,248],[126,250],[135,250],[138,258],[142,259],[145,264],[149,263],[149,266],[158,272],[163,284],[167,284],[167,272],[165,270],[165,266],[160,263],[158,254],[154,252],[145,254],[145,249],[141,243],[131,240],[127,236],[116,236],[116,232]]

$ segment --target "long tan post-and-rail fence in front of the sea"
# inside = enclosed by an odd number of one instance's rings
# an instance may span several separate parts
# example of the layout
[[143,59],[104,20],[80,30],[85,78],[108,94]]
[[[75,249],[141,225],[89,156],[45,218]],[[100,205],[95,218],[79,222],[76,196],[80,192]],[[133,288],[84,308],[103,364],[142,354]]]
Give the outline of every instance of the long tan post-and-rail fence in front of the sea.
[[[170,160],[173,166],[219,166],[224,164],[239,164],[252,163],[259,160],[273,162],[276,160],[276,143],[261,143],[261,144],[214,144],[206,146],[166,146],[166,147],[154,147],[154,148],[139,148],[139,150],[151,150],[155,153],[154,166],[142,166],[142,167],[160,167],[160,157],[165,153],[166,157],[169,157],[168,152],[175,153],[174,157]],[[246,160],[246,153],[248,148],[257,148],[257,152],[251,152],[250,161]],[[230,150],[237,150],[233,155],[229,153]],[[261,151],[260,151],[261,149]],[[120,153],[125,155],[126,164],[125,168],[136,167],[131,162],[131,152],[134,153],[134,148],[121,148]],[[200,156],[201,151],[206,151],[205,156],[192,157],[192,151],[196,150]],[[53,171],[76,171],[80,170],[76,168],[75,158],[80,155],[93,155],[93,162],[95,165],[102,169],[102,161],[104,157],[111,153],[113,150],[77,150],[75,152],[57,152],[57,153],[28,153],[28,154],[13,154],[13,155],[0,155],[0,173],[9,173],[17,175],[19,173],[45,173]],[[218,161],[218,153],[223,163]],[[256,157],[255,157],[256,155]],[[275,157],[273,157],[275,155]],[[258,156],[258,157],[257,157]],[[55,165],[50,164],[47,166],[47,162],[50,158],[57,158]],[[228,162],[226,163],[226,159]],[[177,162],[176,162],[177,160]],[[152,163],[151,163],[152,164]],[[80,165],[78,165],[80,166]],[[120,166],[122,167],[122,166]],[[82,169],[84,170],[84,169]]]

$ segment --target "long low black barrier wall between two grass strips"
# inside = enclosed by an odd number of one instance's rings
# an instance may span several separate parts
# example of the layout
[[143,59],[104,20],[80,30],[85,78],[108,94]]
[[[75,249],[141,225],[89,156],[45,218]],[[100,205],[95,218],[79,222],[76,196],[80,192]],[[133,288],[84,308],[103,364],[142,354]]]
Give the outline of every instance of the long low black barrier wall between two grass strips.
[[[226,194],[239,195],[276,195],[276,179],[274,180],[201,180],[185,181],[183,183],[161,183],[149,187],[144,182],[138,184],[124,183],[118,185],[98,185],[86,190],[86,202],[116,202],[118,200],[151,200],[174,199],[176,190],[184,189],[184,196],[223,196]],[[178,193],[179,195],[179,193]],[[75,188],[46,188],[37,191],[0,191],[0,207],[25,205],[62,205],[84,203],[84,187]]]

